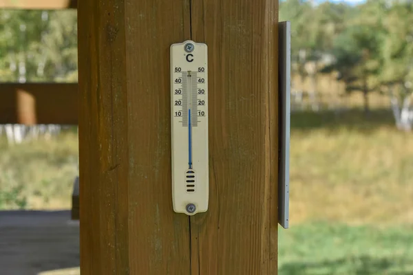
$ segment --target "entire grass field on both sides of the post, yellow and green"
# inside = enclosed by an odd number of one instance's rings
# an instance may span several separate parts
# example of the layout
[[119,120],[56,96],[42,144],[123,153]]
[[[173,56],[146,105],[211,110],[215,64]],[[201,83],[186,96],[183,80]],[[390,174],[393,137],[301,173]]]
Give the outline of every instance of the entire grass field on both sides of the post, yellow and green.
[[[413,274],[413,134],[389,111],[294,113],[280,274]],[[0,208],[70,208],[76,133],[0,141]]]

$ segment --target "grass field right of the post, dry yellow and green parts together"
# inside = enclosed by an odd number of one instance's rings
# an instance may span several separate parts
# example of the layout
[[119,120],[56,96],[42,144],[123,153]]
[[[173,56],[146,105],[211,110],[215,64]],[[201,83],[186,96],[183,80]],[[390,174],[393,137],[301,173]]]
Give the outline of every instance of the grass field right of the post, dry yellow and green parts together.
[[295,113],[279,273],[413,274],[413,135],[388,111]]

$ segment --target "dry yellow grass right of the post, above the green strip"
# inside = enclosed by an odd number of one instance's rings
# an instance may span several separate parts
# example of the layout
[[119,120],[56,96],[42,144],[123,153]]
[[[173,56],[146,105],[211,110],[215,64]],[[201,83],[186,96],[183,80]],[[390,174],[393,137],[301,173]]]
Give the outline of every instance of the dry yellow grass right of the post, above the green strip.
[[363,130],[366,118],[357,116],[359,127],[346,125],[346,117],[343,126],[338,118],[333,127],[293,127],[292,223],[413,223],[412,134],[385,121]]

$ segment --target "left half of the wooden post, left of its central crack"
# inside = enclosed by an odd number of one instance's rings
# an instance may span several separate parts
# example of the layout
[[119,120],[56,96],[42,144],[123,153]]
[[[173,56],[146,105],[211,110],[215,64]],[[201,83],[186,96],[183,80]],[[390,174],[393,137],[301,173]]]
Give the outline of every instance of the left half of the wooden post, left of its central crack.
[[81,274],[189,274],[171,203],[169,46],[189,2],[78,5]]

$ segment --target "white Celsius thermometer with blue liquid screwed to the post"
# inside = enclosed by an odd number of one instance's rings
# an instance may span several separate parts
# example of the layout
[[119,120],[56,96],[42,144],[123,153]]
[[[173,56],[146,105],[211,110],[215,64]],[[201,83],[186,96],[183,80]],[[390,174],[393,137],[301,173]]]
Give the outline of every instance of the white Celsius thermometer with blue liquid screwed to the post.
[[207,45],[171,45],[171,131],[173,210],[208,209]]

